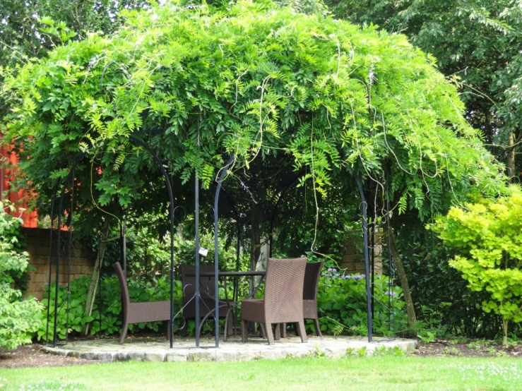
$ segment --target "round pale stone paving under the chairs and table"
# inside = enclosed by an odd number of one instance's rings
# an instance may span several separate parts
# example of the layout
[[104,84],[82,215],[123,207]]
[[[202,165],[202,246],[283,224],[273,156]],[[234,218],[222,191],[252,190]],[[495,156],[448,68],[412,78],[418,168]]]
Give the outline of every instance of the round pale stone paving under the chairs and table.
[[229,337],[227,342],[220,340],[215,348],[213,337],[202,337],[200,347],[196,348],[194,338],[174,339],[174,348],[162,337],[127,337],[120,345],[117,338],[90,339],[69,342],[63,347],[43,347],[50,354],[71,356],[100,361],[249,361],[257,359],[285,359],[289,357],[308,357],[324,355],[331,358],[345,354],[372,355],[376,349],[415,349],[413,339],[375,338],[369,343],[363,337],[315,337],[302,344],[299,337],[288,337],[275,341],[269,346],[266,339],[249,337],[243,344],[239,337]]

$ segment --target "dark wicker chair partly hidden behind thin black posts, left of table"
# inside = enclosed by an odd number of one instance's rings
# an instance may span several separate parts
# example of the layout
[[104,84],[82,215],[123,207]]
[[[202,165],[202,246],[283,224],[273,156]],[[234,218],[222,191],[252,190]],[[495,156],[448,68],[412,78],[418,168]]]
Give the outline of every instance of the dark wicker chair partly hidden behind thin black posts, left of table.
[[[196,277],[189,277],[187,274],[194,274],[196,266],[181,265],[182,272],[182,286],[183,286],[183,319],[184,325],[182,328],[182,336],[186,336],[189,319],[196,319],[196,301],[194,294],[196,294]],[[213,265],[200,265],[199,271],[204,273],[213,273]],[[207,318],[215,310],[215,278],[214,277],[200,277],[199,278],[199,318]],[[220,318],[227,318],[225,322],[224,339],[227,340],[227,332],[232,329],[232,303],[229,301],[219,301],[220,308],[226,308],[227,311],[220,311]]]

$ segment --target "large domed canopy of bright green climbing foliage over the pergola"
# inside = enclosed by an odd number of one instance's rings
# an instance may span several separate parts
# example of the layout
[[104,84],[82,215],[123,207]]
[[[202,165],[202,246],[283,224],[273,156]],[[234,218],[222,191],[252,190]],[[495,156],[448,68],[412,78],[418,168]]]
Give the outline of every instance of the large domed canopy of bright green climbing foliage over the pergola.
[[196,172],[206,187],[229,155],[232,173],[291,157],[300,183],[323,195],[334,179],[351,186],[351,174],[379,180],[389,162],[392,199],[421,217],[448,192],[502,186],[456,88],[403,35],[270,1],[212,11],[174,0],[124,17],[111,37],[6,75],[8,136],[23,142],[39,191],[84,155],[102,168],[97,202],[129,205],[152,180],[139,174],[155,169],[128,137],[150,129],[140,137],[171,174]]

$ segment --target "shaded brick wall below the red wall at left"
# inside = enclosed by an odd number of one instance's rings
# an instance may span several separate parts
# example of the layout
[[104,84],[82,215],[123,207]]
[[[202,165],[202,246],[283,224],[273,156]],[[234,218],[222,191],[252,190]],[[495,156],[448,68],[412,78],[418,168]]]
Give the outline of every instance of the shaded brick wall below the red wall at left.
[[[26,296],[32,295],[42,299],[44,287],[49,283],[49,229],[23,228],[22,233],[27,243],[26,251],[29,253],[29,264],[35,267],[35,272],[30,272],[28,291]],[[61,240],[69,243],[69,232],[61,232]],[[66,246],[60,247],[59,284],[67,283],[67,272],[69,265],[68,251]],[[56,243],[53,245],[52,281],[56,278]],[[73,241],[71,249],[71,281],[83,275],[92,275],[95,255],[91,253],[85,243]]]

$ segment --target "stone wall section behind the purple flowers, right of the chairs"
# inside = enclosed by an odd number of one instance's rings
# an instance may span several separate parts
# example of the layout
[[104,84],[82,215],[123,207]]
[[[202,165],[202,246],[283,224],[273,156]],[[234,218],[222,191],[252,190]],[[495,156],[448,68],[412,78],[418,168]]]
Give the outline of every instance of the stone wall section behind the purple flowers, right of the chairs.
[[[382,242],[381,236],[375,234],[374,238],[374,270],[376,275],[382,274]],[[346,274],[364,274],[364,254],[363,246],[360,239],[348,239],[345,241],[343,250],[343,260],[340,263],[341,269],[346,270]],[[370,253],[370,267],[372,267],[372,258]]]

